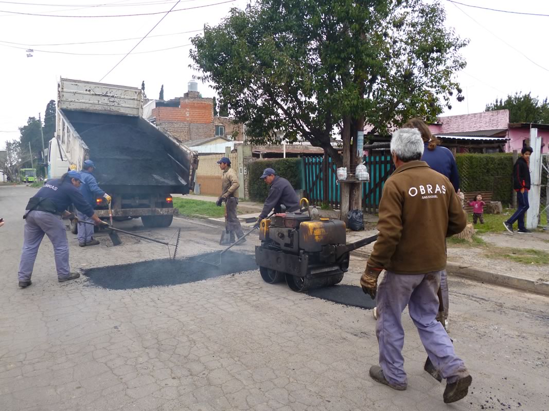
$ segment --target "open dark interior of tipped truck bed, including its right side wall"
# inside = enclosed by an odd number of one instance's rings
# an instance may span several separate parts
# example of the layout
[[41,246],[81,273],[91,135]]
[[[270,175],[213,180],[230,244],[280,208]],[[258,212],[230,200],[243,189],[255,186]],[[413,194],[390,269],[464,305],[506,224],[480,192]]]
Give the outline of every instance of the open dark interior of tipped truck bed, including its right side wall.
[[[148,190],[187,194],[188,158],[181,147],[141,117],[61,110],[88,147],[97,181],[105,190],[140,186]],[[187,153],[184,153],[187,154]],[[183,156],[184,157],[184,156]],[[145,186],[145,187],[144,187]]]

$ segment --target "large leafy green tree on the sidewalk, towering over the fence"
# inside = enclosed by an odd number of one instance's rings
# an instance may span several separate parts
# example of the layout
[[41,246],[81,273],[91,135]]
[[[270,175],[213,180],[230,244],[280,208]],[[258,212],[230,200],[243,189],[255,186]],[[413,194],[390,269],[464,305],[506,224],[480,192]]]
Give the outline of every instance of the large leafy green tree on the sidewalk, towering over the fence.
[[[444,20],[438,2],[423,0],[258,0],[205,26],[191,58],[252,142],[301,136],[352,168],[365,123],[386,134],[410,117],[434,119],[454,91],[462,99],[453,75],[467,41]],[[330,144],[334,129],[343,156]],[[343,185],[342,212],[349,201],[360,208],[360,189],[349,186],[358,185]]]

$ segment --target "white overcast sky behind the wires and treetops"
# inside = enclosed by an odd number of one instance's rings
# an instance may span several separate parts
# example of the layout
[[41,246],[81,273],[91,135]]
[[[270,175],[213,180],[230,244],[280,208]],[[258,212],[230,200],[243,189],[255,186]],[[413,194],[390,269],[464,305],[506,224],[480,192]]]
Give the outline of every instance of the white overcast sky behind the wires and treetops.
[[[454,27],[461,37],[470,39],[470,44],[463,50],[467,68],[457,77],[466,100],[455,102],[446,114],[483,111],[487,102],[520,90],[531,91],[542,98],[549,95],[549,54],[546,53],[549,17],[498,13],[440,1],[447,11],[447,25]],[[459,1],[480,7],[549,15],[547,0]],[[247,2],[182,0],[175,10],[200,8],[167,15],[149,38],[103,82],[140,87],[144,80],[149,97],[157,98],[161,84],[164,84],[166,99],[181,96],[193,75],[188,68],[189,37],[199,33],[204,24],[217,24],[230,8],[244,8]],[[19,138],[18,127],[26,124],[28,117],[38,116],[39,112],[43,116],[47,102],[56,99],[60,76],[100,81],[162,16],[88,19],[8,12],[124,15],[162,12],[173,4],[175,1],[168,0],[0,1],[0,148],[5,141]],[[119,39],[126,40],[112,41]],[[34,50],[30,58],[26,56],[27,48]],[[147,53],[168,48],[171,49]],[[199,84],[199,90],[204,96],[213,95],[206,85]]]

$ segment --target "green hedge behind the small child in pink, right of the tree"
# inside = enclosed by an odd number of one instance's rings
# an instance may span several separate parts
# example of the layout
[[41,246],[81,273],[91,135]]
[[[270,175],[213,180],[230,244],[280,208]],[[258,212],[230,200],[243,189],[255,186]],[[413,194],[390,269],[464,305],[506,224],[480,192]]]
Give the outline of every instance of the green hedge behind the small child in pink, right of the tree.
[[513,191],[513,155],[458,154],[457,168],[461,177],[461,190],[465,193],[491,191],[492,201],[510,204]]

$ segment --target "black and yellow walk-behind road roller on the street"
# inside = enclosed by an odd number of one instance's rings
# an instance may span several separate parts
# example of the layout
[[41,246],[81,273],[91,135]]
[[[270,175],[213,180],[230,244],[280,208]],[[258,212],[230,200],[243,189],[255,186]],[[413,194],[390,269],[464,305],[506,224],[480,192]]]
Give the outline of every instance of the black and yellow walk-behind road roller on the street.
[[255,262],[269,284],[286,281],[295,292],[338,284],[349,269],[350,252],[376,241],[377,236],[346,244],[345,222],[312,219],[306,199],[300,210],[279,213],[260,222],[261,245]]

